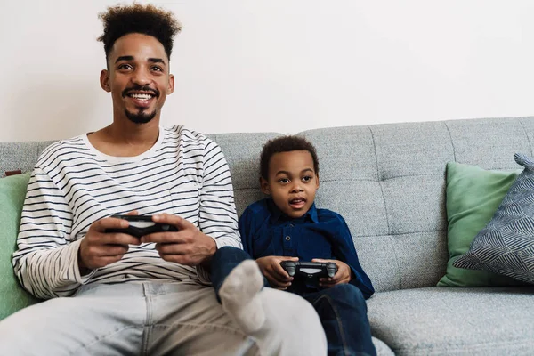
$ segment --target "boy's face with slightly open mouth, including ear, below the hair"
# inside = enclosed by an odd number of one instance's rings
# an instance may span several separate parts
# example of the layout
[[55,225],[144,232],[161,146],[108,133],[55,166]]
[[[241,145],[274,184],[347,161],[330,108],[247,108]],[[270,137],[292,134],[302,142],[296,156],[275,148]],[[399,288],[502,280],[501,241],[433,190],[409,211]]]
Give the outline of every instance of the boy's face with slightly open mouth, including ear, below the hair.
[[275,153],[269,161],[268,179],[260,178],[260,183],[263,193],[271,195],[284,214],[292,218],[303,216],[319,188],[312,154],[307,150]]

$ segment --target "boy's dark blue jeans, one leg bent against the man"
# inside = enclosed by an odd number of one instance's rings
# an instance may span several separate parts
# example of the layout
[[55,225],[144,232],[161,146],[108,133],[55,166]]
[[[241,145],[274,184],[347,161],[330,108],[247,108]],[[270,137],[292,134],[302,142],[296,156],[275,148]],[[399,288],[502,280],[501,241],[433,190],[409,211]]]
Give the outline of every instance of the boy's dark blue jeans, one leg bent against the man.
[[[221,247],[212,257],[210,277],[215,293],[239,263],[252,259],[235,247]],[[265,279],[265,286],[269,286]],[[367,305],[360,289],[350,284],[301,294],[319,314],[328,341],[328,356],[376,355],[371,341]],[[219,300],[220,301],[220,300]]]

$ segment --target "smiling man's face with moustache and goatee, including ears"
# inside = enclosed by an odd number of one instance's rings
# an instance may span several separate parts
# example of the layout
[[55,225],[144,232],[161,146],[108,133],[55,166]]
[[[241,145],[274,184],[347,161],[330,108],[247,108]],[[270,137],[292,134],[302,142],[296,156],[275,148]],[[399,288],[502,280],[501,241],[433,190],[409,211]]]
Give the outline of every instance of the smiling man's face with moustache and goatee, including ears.
[[163,44],[153,36],[122,36],[109,52],[108,68],[101,72],[101,86],[111,93],[114,117],[137,124],[159,118],[166,95],[174,91]]

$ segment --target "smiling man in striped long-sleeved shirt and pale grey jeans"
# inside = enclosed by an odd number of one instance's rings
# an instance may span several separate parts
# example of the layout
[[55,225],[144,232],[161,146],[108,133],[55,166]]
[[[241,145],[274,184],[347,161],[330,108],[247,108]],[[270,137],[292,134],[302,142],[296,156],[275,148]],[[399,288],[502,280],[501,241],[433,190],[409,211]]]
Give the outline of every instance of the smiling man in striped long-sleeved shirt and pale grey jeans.
[[[182,126],[159,126],[179,23],[140,4],[101,19],[113,122],[37,161],[13,265],[28,291],[50,300],[0,322],[0,354],[324,354],[317,315],[299,297],[265,288],[265,321],[245,331],[209,287],[217,248],[241,242],[222,151]],[[155,215],[179,231],[106,232],[128,225],[111,214]]]

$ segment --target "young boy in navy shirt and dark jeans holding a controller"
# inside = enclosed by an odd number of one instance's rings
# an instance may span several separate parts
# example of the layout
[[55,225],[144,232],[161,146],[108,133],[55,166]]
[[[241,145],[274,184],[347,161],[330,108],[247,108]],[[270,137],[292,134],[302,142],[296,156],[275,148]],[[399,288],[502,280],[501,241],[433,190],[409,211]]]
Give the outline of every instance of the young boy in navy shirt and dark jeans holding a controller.
[[[302,137],[279,137],[263,146],[260,165],[261,188],[270,198],[248,206],[239,218],[245,251],[271,287],[287,289],[312,303],[325,329],[329,355],[376,354],[365,302],[375,290],[360,266],[351,232],[341,215],[318,209],[313,202],[319,188],[315,148]],[[231,255],[228,249],[222,252]],[[285,260],[333,262],[337,272],[332,279],[320,279],[319,287],[309,286],[289,277],[280,265]],[[215,286],[223,307],[225,301],[236,304],[233,313],[241,314],[236,319],[250,325],[263,319],[262,306],[253,298],[263,286],[255,270],[254,263],[241,263],[226,286]]]

